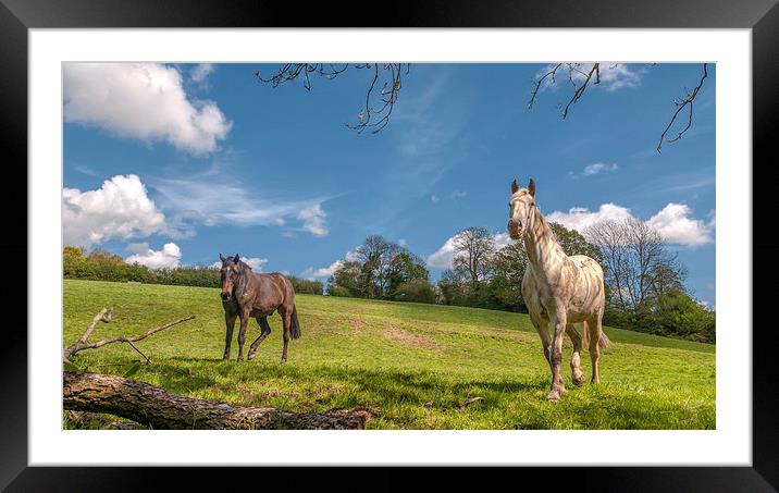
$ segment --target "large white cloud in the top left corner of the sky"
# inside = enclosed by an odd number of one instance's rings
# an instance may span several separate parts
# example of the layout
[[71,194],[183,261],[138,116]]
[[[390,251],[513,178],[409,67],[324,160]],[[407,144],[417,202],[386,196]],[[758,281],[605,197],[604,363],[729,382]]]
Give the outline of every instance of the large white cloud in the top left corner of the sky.
[[64,119],[121,137],[211,152],[232,127],[217,103],[187,99],[178,70],[157,63],[66,63]]

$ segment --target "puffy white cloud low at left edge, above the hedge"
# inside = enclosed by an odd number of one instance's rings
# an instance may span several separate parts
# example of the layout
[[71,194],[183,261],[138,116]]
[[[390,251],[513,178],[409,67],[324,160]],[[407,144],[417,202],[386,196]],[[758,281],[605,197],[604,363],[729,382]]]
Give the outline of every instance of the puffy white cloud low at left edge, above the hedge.
[[97,190],[62,189],[62,230],[65,245],[89,247],[109,239],[144,237],[166,231],[137,175],[116,175]]

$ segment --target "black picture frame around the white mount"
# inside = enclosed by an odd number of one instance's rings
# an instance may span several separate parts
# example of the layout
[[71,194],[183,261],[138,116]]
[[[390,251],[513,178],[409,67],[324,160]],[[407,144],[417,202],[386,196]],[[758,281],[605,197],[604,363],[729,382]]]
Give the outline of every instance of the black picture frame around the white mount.
[[[0,0],[0,139],[7,172],[16,173],[13,190],[0,194],[0,210],[7,213],[15,234],[0,238],[0,250],[5,258],[15,259],[17,272],[9,274],[2,285],[2,299],[12,315],[5,318],[0,358],[0,488],[8,491],[135,491],[152,483],[150,474],[183,483],[205,484],[221,478],[223,488],[249,488],[261,478],[275,472],[240,468],[213,471],[211,468],[191,468],[185,474],[176,468],[44,468],[27,467],[27,334],[26,311],[22,311],[20,281],[26,274],[27,217],[21,213],[26,204],[27,187],[27,35],[30,28],[132,28],[132,27],[316,27],[323,24],[338,27],[595,27],[595,28],[751,28],[752,29],[752,100],[753,100],[753,261],[759,261],[752,286],[718,286],[752,289],[753,320],[744,318],[742,328],[721,330],[750,330],[753,338],[753,466],[752,467],[576,467],[523,468],[508,471],[505,481],[522,484],[543,484],[549,477],[558,481],[569,479],[578,486],[592,486],[599,491],[777,491],[779,489],[779,379],[775,362],[777,347],[776,322],[758,324],[758,312],[770,307],[777,293],[769,282],[777,278],[776,261],[767,261],[779,252],[775,235],[762,233],[772,226],[769,202],[774,183],[766,180],[769,160],[775,161],[771,144],[777,128],[777,89],[779,88],[778,0],[704,2],[703,0],[653,0],[626,2],[619,0],[546,0],[519,2],[511,0],[480,2],[430,1],[425,3],[401,0],[381,12],[369,9],[364,2],[271,2],[256,1],[149,1],[149,0]],[[385,5],[387,7],[387,5]],[[369,13],[372,11],[373,13]],[[772,158],[772,159],[771,159]],[[758,163],[761,163],[758,165]],[[762,180],[758,180],[758,175]],[[8,177],[7,177],[8,180]],[[24,186],[23,186],[24,184]],[[763,217],[761,217],[761,214]],[[764,219],[764,221],[761,221]],[[23,233],[24,232],[24,233]],[[761,233],[761,234],[758,234]],[[26,261],[25,261],[26,259]],[[22,271],[25,272],[22,272]],[[12,279],[13,278],[13,279]],[[767,281],[761,286],[758,280]],[[32,296],[28,299],[33,299]],[[28,304],[32,301],[27,301]],[[774,303],[775,305],[775,303]],[[757,310],[759,308],[759,311]],[[32,309],[27,306],[27,309]],[[747,332],[749,333],[749,332]],[[579,444],[585,451],[586,444]],[[258,444],[258,454],[269,454]],[[551,460],[554,461],[554,460]],[[150,470],[151,469],[151,470]],[[371,484],[382,489],[405,483],[405,474],[396,468],[361,468],[344,474],[337,468],[319,469],[310,474],[294,474],[283,480],[300,489],[301,481],[318,484],[360,489],[355,479],[364,474]],[[469,481],[481,486],[496,476],[491,471],[470,468],[445,468],[435,478],[419,479],[415,485],[430,486],[432,481],[446,477],[460,486]],[[506,472],[506,471],[504,471]],[[284,472],[290,478],[290,471]],[[264,480],[264,479],[263,479]],[[428,482],[430,483],[428,484]],[[541,483],[539,481],[542,481]],[[508,484],[511,484],[510,482]]]

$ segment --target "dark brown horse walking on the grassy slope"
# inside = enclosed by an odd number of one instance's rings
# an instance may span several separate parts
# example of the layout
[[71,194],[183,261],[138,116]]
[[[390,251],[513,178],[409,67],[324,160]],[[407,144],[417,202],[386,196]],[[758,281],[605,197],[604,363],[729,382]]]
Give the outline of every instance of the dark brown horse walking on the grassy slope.
[[230,359],[230,344],[233,340],[236,317],[240,319],[238,361],[243,361],[244,341],[249,318],[254,317],[262,331],[259,337],[251,343],[246,359],[255,357],[257,346],[271,333],[268,317],[277,310],[284,325],[282,362],[286,361],[289,337],[300,337],[300,324],[297,321],[297,309],[295,308],[295,288],[292,282],[276,272],[271,274],[252,272],[251,268],[242,261],[237,254],[235,257],[223,257],[222,254],[219,254],[219,258],[222,260],[222,307],[224,308],[224,321],[227,324],[224,359]]

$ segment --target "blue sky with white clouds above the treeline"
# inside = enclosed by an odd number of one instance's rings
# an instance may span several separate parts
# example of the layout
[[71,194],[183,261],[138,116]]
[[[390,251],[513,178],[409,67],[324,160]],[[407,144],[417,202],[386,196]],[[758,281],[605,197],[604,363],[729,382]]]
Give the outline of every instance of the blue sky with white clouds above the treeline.
[[655,148],[700,64],[606,69],[566,120],[570,83],[539,64],[415,64],[389,124],[358,134],[367,71],[272,88],[260,64],[71,64],[64,76],[66,244],[151,267],[240,254],[256,269],[326,279],[369,234],[428,259],[468,226],[505,238],[514,177],[569,227],[650,221],[715,301],[716,70],[692,128]]

